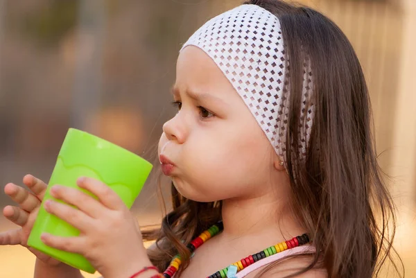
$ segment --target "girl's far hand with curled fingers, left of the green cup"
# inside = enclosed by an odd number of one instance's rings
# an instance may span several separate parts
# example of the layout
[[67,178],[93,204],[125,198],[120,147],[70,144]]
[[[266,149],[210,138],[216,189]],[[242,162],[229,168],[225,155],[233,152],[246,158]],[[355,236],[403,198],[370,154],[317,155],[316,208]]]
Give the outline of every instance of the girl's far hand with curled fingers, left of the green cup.
[[3,209],[3,215],[21,228],[0,233],[0,245],[22,245],[31,250],[44,263],[58,266],[61,263],[60,261],[27,245],[47,185],[42,180],[33,177],[33,175],[25,175],[23,182],[31,189],[31,192],[12,183],[6,184],[4,187],[4,193],[17,202],[19,207],[7,206]]

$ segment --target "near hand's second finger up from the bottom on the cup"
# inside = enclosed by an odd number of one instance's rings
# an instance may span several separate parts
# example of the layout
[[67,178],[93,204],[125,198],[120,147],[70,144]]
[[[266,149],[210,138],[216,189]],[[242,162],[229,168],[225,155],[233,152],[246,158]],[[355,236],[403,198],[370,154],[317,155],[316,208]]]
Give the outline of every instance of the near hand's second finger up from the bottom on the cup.
[[76,229],[85,232],[92,228],[94,219],[84,214],[79,209],[70,207],[69,205],[47,200],[45,202],[45,209],[50,214],[58,216],[58,218],[66,221]]

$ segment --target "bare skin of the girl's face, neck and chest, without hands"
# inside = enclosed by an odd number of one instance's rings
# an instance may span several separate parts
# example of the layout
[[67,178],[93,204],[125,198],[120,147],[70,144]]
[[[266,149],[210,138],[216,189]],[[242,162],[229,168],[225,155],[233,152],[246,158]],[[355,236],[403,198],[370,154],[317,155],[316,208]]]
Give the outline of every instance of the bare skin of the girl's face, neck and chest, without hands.
[[[291,188],[279,157],[211,58],[187,46],[177,60],[173,88],[179,110],[164,125],[159,153],[175,164],[171,179],[183,196],[223,200],[224,223],[220,235],[198,248],[181,278],[206,277],[225,262],[303,234],[288,210]],[[283,277],[284,270],[272,277]]]

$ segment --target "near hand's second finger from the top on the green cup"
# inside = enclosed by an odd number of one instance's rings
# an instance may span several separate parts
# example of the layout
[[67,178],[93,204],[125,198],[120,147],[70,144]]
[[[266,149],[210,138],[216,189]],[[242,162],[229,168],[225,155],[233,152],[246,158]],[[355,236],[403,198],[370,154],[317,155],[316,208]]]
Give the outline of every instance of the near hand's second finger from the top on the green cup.
[[92,196],[80,191],[80,189],[54,185],[51,187],[51,195],[57,199],[63,200],[69,205],[78,207],[78,209],[92,218],[103,216],[107,210],[101,202],[98,202],[98,200],[92,198]]

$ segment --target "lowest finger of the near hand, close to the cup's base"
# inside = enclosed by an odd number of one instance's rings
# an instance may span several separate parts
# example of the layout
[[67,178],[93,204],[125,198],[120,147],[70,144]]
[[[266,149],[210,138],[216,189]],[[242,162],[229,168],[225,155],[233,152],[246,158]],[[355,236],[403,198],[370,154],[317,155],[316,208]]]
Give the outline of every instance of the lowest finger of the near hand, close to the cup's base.
[[62,237],[44,233],[40,238],[43,243],[53,248],[78,254],[82,254],[87,246],[84,236]]

